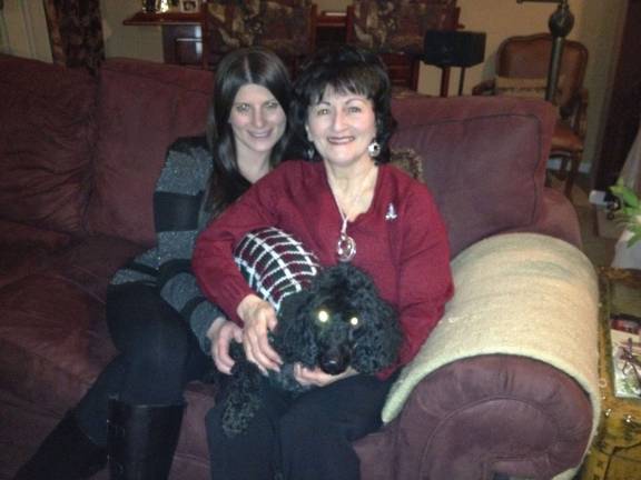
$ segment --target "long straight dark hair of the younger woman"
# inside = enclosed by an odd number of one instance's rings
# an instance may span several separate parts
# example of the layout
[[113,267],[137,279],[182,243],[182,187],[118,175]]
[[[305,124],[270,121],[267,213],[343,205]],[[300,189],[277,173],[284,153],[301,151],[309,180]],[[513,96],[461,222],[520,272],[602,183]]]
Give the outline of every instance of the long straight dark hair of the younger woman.
[[[272,51],[252,47],[235,50],[220,60],[216,68],[214,96],[207,118],[207,142],[211,151],[214,169],[209,181],[206,210],[211,218],[240,197],[250,183],[240,174],[236,158],[234,131],[229,116],[241,87],[254,83],[269,90],[287,112],[292,100],[289,73],[280,59]],[[288,144],[288,131],[274,146],[269,163],[277,164]]]

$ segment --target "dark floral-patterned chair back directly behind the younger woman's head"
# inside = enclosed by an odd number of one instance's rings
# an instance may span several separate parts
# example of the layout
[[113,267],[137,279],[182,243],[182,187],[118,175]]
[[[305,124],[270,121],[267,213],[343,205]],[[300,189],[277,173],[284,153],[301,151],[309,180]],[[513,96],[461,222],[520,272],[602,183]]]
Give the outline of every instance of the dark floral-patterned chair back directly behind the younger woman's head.
[[215,70],[225,53],[262,46],[294,73],[315,44],[316,4],[309,0],[207,0],[201,8],[203,67]]

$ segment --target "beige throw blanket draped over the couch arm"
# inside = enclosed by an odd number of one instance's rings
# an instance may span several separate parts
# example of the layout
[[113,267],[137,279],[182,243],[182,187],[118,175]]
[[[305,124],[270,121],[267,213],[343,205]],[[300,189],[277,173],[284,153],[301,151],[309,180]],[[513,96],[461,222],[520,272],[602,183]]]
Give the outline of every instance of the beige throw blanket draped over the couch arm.
[[[455,294],[383,410],[393,420],[422,378],[453,361],[487,353],[546,362],[576,380],[600,416],[594,269],[575,247],[535,233],[494,236],[452,262]],[[556,479],[571,478],[572,472]]]

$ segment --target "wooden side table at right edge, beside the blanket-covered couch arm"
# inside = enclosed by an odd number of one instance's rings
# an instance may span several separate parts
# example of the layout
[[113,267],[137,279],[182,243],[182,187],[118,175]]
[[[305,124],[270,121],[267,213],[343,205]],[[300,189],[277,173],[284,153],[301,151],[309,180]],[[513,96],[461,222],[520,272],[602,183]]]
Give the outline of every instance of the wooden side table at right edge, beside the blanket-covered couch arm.
[[641,479],[641,398],[614,396],[610,319],[617,313],[641,317],[641,270],[602,268],[599,376],[602,419],[582,469],[581,480]]

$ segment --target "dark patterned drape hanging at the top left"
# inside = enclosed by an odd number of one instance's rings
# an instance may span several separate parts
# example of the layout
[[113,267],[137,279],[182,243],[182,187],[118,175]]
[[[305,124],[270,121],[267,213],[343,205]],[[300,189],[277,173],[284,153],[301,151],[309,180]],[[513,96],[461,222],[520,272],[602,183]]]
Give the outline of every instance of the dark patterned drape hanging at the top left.
[[43,0],[53,62],[95,72],[105,59],[100,0]]

